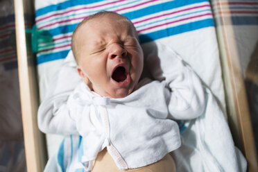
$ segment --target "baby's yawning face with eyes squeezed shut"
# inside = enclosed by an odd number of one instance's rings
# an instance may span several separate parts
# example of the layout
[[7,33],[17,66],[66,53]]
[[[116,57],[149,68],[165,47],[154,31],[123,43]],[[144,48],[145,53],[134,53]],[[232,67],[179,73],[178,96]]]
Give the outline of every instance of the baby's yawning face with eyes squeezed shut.
[[129,22],[105,15],[89,20],[76,37],[78,73],[101,96],[122,98],[135,89],[144,55]]

